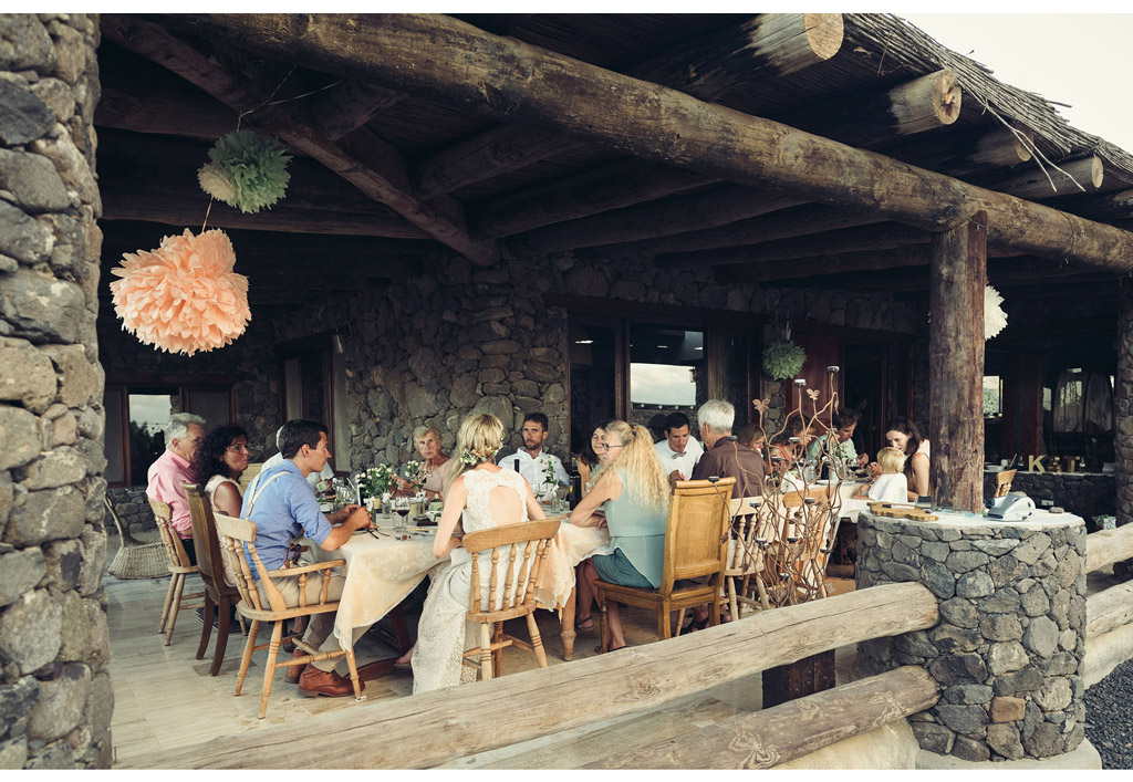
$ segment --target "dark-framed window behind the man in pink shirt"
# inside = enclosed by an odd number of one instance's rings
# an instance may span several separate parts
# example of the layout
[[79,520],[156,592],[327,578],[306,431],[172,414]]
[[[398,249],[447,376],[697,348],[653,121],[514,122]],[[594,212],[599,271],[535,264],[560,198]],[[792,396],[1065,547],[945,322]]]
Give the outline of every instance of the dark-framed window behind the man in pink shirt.
[[[194,380],[197,382],[161,382]],[[233,420],[235,377],[120,375],[107,379],[104,477],[110,485],[144,486],[150,465],[165,450],[162,427],[174,413],[205,419],[205,431]],[[150,382],[147,382],[150,381]],[[211,382],[205,382],[211,381]]]

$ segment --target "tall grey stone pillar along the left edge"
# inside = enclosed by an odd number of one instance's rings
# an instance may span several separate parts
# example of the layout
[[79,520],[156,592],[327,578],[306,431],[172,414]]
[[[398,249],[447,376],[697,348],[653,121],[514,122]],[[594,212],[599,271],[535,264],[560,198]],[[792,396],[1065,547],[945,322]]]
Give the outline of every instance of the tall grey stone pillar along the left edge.
[[0,15],[0,768],[109,768],[97,19]]

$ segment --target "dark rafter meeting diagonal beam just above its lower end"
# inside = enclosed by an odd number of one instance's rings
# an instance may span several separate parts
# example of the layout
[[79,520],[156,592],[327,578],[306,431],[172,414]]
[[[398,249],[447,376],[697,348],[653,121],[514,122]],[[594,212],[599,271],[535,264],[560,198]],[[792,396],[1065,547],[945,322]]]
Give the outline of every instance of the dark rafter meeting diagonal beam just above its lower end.
[[470,207],[475,236],[502,237],[663,198],[713,182],[688,169],[622,160]]

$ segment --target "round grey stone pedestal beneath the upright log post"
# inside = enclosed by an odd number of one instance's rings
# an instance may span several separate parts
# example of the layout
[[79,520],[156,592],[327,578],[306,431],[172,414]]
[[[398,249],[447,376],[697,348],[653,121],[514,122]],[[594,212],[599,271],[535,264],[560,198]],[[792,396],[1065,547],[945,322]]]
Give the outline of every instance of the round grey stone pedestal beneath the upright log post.
[[936,706],[910,717],[923,749],[1014,760],[1062,755],[1082,742],[1080,519],[920,524],[862,513],[858,530],[859,589],[919,581],[939,601],[936,627],[858,645],[864,675],[922,665],[940,682]]

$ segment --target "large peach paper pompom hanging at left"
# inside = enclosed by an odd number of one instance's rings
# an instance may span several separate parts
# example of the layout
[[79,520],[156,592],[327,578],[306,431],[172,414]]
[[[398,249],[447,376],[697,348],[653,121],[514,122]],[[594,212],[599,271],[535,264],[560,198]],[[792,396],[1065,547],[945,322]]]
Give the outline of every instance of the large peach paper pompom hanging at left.
[[236,274],[224,231],[167,236],[154,250],[125,253],[110,283],[122,328],[146,345],[191,356],[230,345],[244,333],[248,278]]

